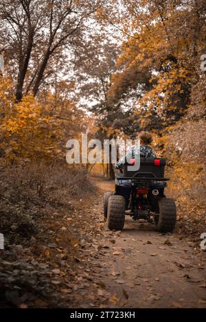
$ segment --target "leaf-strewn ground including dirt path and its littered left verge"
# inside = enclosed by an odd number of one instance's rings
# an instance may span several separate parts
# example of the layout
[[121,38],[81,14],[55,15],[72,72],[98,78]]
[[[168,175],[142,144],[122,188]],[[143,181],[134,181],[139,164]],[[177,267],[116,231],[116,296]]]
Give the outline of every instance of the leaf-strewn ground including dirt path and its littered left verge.
[[[11,287],[3,307],[205,308],[206,253],[199,244],[178,229],[161,234],[129,217],[122,232],[109,231],[102,196],[114,183],[90,180],[95,192],[80,199],[78,210],[51,216],[38,244],[33,238],[30,247],[16,246],[13,259],[5,256],[3,274],[10,274]],[[67,231],[76,221],[71,238]]]

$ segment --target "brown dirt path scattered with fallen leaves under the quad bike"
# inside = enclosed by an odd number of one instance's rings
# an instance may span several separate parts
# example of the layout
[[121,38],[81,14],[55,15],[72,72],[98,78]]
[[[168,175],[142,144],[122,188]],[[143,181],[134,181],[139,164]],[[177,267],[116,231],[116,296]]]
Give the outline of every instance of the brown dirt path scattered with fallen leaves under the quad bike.
[[70,307],[206,307],[205,253],[176,233],[161,235],[129,217],[121,233],[109,231],[102,194],[113,183],[92,181],[100,192],[87,209],[91,231],[82,240]]

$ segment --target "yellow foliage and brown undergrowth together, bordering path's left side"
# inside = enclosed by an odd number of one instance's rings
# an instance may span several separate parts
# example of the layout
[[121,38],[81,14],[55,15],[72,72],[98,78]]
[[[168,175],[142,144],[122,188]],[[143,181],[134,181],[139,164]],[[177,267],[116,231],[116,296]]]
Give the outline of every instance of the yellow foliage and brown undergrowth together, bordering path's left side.
[[87,220],[78,209],[93,191],[85,168],[65,158],[67,140],[80,136],[87,117],[62,94],[16,103],[12,93],[0,76],[0,306],[55,307]]

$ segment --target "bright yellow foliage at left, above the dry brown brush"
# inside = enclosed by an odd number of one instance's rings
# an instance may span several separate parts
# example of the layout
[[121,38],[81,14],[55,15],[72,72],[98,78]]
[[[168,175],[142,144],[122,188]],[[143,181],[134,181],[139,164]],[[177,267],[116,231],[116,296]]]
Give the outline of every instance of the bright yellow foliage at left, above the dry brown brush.
[[4,106],[4,115],[0,126],[1,155],[8,161],[63,159],[69,133],[78,134],[78,122],[83,122],[82,118],[78,117],[80,115],[76,115],[73,111],[74,106],[68,100],[65,101],[67,115],[62,115],[62,106],[58,102],[55,114],[53,106],[55,97],[52,94],[48,95],[45,106],[33,95],[25,95],[21,102],[16,104],[14,98],[11,99],[11,88],[10,80],[2,79],[0,102]]

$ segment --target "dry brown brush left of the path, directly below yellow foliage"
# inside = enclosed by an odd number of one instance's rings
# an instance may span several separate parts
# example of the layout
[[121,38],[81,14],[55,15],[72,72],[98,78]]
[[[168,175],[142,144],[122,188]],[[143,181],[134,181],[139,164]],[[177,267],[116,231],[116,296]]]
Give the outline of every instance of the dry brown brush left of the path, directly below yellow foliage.
[[[23,242],[38,231],[41,217],[91,191],[84,170],[67,165],[19,165],[0,172],[0,231],[8,242]],[[77,203],[76,203],[77,204]],[[38,225],[37,225],[38,221]]]

